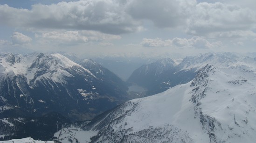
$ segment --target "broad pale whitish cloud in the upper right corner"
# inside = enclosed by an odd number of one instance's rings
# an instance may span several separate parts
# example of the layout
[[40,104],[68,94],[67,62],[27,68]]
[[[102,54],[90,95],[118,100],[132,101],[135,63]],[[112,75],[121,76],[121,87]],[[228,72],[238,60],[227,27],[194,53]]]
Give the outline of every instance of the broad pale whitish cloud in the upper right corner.
[[[249,8],[216,3],[199,3],[188,19],[187,33],[208,36],[248,31],[256,26],[256,14]],[[228,36],[228,35],[227,35]]]

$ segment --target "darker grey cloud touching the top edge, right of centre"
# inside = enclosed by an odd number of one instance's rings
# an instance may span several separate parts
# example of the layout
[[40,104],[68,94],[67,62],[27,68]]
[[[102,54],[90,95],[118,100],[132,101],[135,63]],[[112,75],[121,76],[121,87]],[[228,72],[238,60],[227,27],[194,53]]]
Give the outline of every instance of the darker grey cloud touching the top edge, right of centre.
[[196,0],[130,0],[126,11],[135,19],[168,28],[184,25],[195,5]]

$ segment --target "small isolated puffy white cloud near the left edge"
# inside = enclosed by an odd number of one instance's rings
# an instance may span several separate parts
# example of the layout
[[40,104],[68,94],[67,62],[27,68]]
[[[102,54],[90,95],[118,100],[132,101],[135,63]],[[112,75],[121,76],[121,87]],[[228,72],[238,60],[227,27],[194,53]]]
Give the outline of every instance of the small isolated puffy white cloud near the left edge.
[[14,32],[13,35],[11,36],[13,44],[28,44],[29,42],[32,41],[32,39],[20,32]]

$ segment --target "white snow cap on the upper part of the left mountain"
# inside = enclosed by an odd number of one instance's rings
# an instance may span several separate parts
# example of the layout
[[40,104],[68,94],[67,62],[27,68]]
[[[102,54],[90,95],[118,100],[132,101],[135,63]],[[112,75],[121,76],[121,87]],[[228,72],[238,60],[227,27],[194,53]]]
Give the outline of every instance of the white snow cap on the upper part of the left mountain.
[[[55,83],[66,84],[65,77],[72,77],[67,69],[75,67],[77,72],[88,72],[96,78],[89,70],[82,65],[76,64],[69,58],[61,54],[45,53],[42,58],[38,58],[42,53],[32,53],[28,55],[6,54],[0,56],[0,76],[7,74],[23,75],[27,78],[28,84],[33,88],[37,81],[51,80]],[[11,60],[10,60],[11,59]],[[10,62],[11,61],[11,62]],[[52,62],[52,63],[51,63]],[[32,67],[32,64],[44,64],[46,67]],[[48,66],[48,67],[47,67]],[[35,76],[35,73],[42,70],[48,70],[41,76]],[[2,79],[2,78],[1,78]],[[30,83],[33,80],[32,83]]]

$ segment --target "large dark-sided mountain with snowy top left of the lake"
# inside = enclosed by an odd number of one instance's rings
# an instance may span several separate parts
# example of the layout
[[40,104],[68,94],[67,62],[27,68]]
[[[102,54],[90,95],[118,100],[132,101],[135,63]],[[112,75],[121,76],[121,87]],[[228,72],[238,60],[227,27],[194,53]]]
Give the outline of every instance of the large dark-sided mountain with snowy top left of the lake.
[[99,76],[87,68],[57,53],[1,55],[0,118],[55,111],[72,120],[84,120],[126,100],[126,85],[111,80],[121,79],[114,74]]

